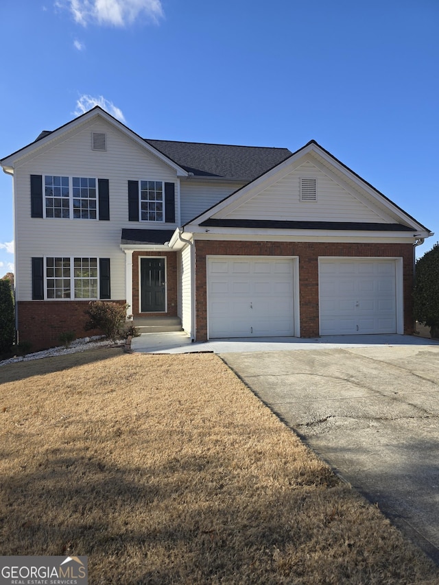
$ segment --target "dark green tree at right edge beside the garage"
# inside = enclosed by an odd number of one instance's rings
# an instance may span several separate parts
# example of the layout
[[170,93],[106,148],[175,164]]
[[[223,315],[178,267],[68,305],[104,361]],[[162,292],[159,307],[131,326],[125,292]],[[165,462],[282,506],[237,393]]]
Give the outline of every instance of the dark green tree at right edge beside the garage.
[[416,262],[414,318],[439,337],[439,242]]

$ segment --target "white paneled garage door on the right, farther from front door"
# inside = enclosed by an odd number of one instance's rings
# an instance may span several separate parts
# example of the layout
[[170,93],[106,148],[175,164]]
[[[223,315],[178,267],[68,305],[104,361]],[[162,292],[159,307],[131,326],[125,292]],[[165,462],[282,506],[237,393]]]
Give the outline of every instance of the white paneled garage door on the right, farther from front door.
[[319,266],[320,335],[396,333],[394,260],[327,260]]

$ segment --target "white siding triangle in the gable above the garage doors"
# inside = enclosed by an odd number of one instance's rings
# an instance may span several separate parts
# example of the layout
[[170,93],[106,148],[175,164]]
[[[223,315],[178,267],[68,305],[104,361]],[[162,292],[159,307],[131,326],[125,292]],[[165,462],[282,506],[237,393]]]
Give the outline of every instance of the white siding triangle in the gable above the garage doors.
[[[317,180],[317,200],[300,200],[300,178]],[[213,217],[226,219],[272,219],[313,222],[386,223],[392,219],[361,202],[359,193],[348,191],[307,161],[238,206]]]

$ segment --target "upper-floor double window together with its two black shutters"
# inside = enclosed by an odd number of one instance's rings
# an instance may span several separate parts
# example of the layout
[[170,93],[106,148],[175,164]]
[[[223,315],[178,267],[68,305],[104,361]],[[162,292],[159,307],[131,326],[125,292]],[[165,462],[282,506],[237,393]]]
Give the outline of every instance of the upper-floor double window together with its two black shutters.
[[31,175],[31,217],[110,219],[108,179]]

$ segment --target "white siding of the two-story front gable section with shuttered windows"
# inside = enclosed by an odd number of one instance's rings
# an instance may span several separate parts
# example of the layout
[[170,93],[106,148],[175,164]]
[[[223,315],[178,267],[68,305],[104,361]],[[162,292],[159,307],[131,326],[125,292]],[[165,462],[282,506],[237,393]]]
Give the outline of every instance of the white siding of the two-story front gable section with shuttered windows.
[[[105,132],[106,152],[91,150],[91,131]],[[110,221],[67,221],[30,217],[30,175],[97,177],[109,180]],[[156,222],[128,221],[128,180],[153,176],[156,180],[176,182],[176,227],[178,217],[178,180],[176,172],[156,156],[104,121],[87,123],[63,137],[41,154],[27,156],[16,165],[15,245],[16,298],[32,300],[32,256],[104,257],[111,261],[112,299],[124,299],[125,254],[120,248],[122,228],[148,228]]]

